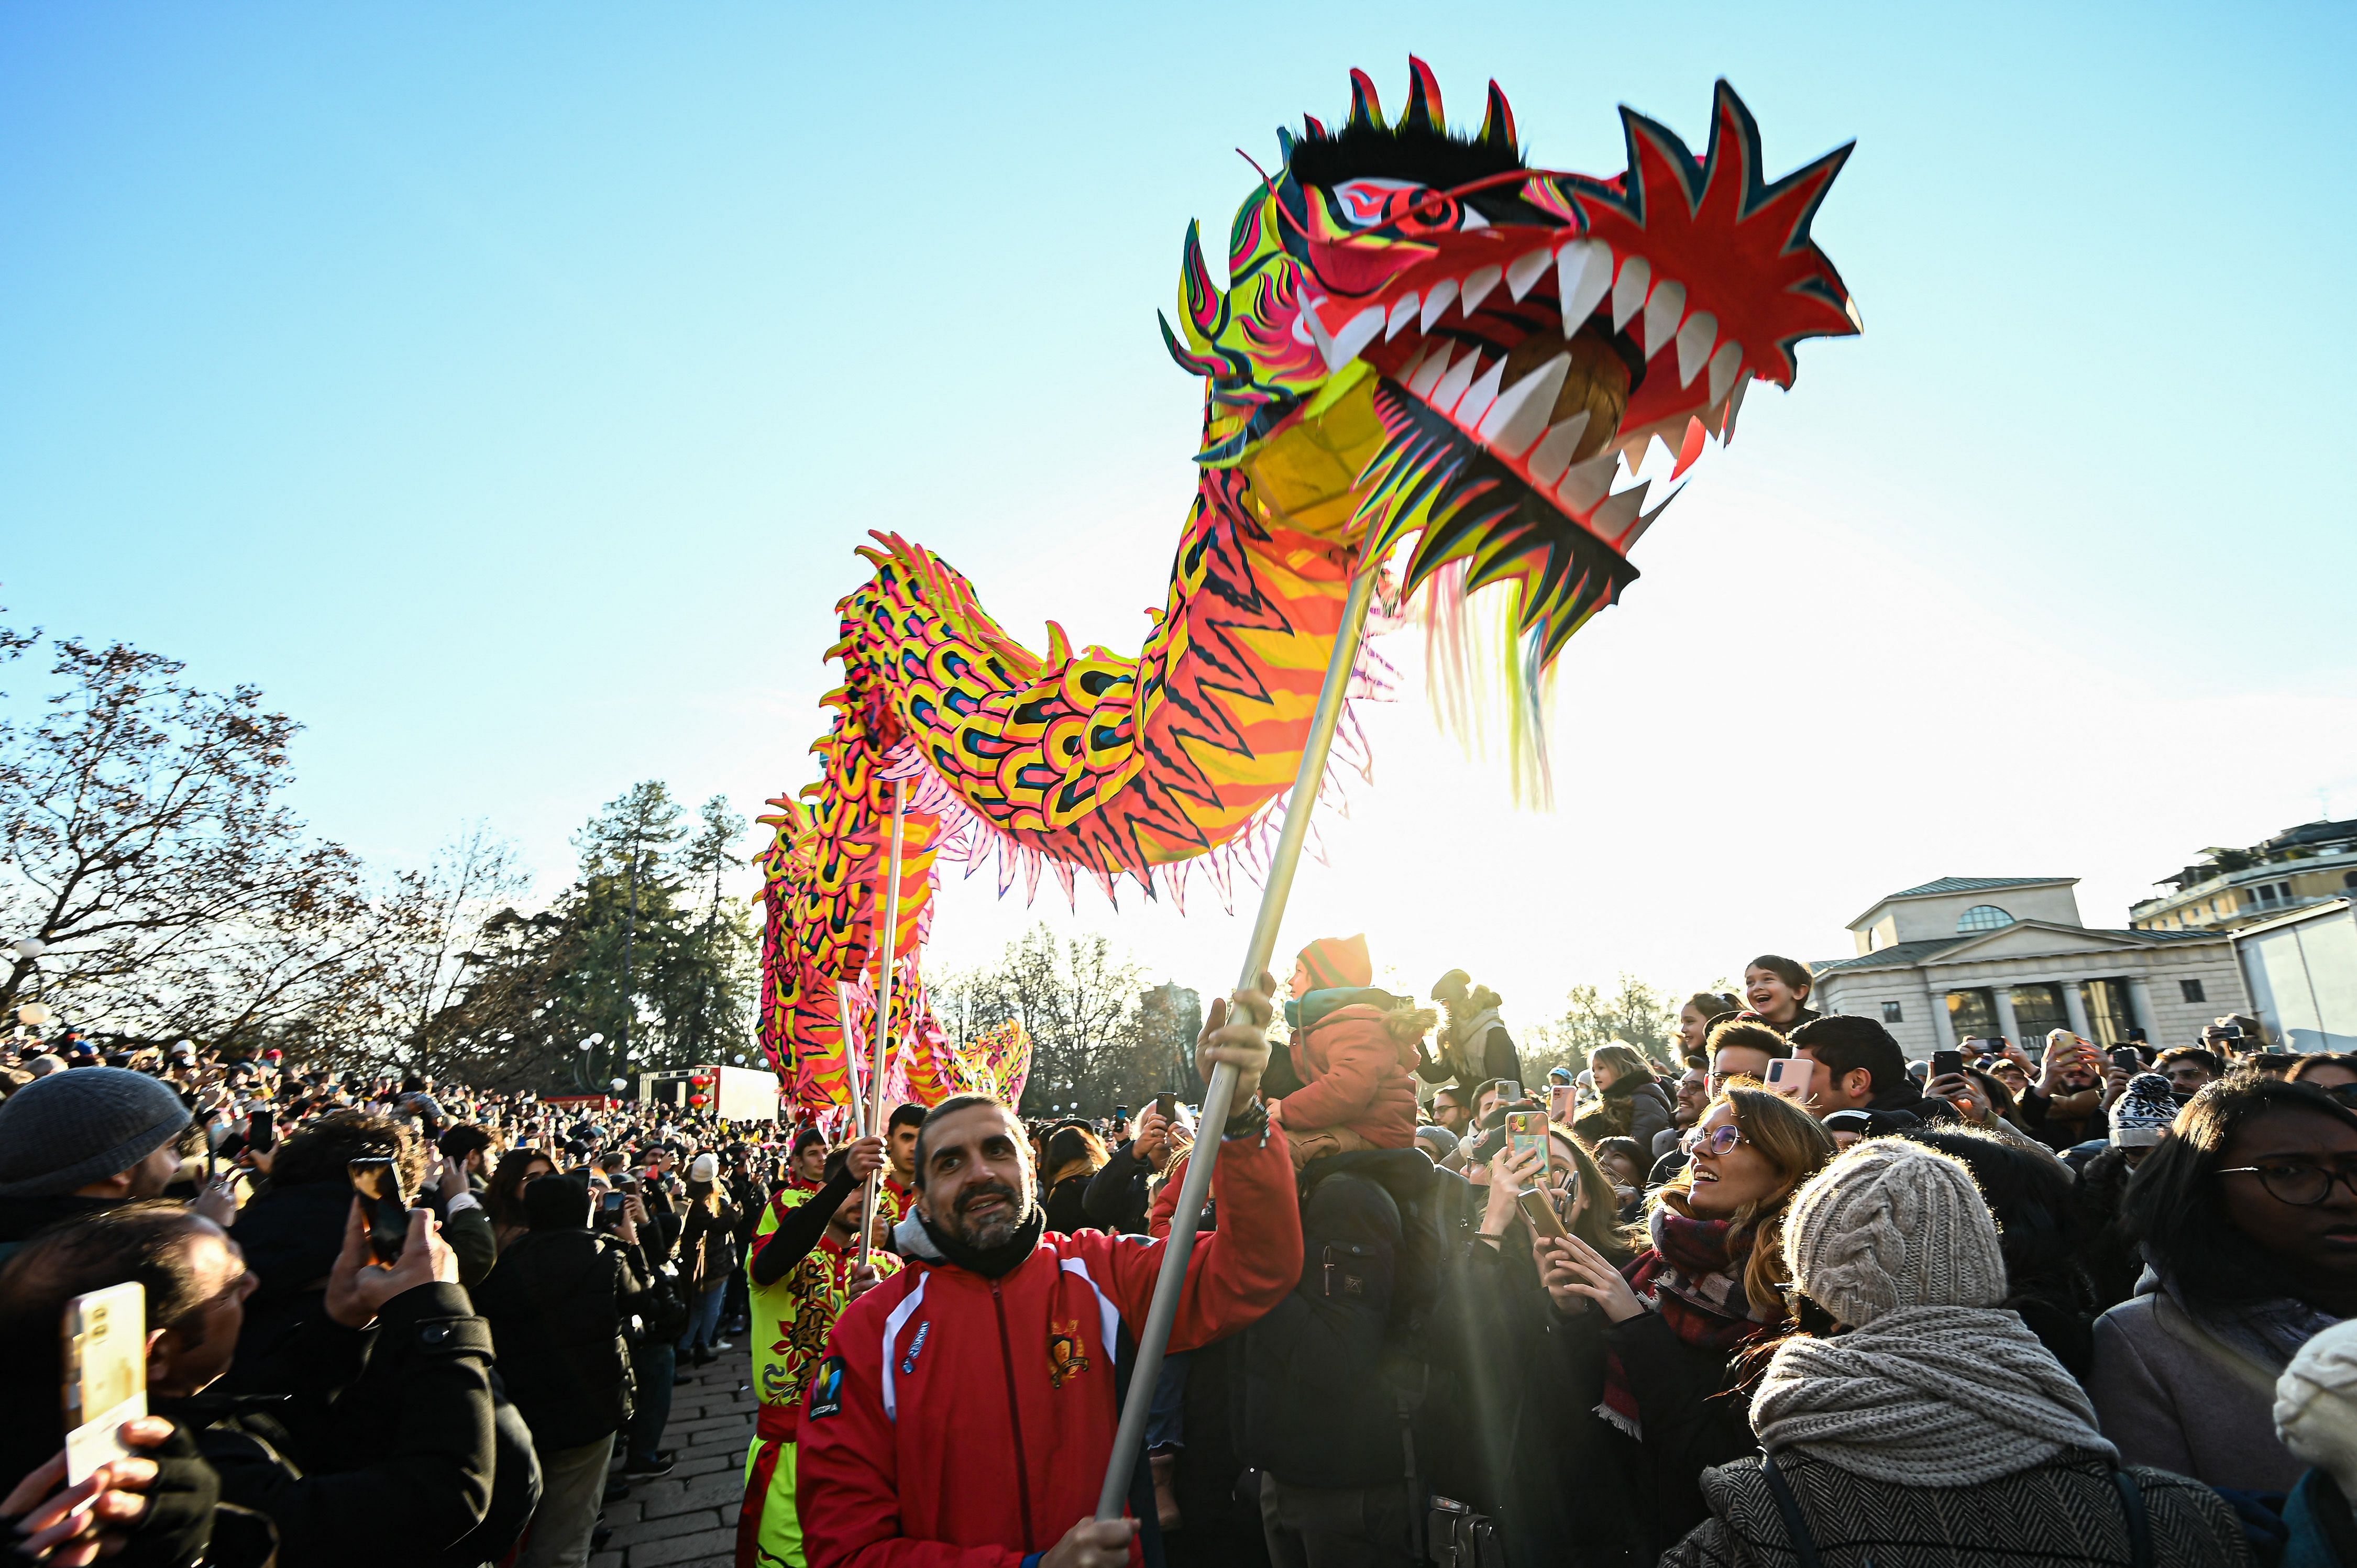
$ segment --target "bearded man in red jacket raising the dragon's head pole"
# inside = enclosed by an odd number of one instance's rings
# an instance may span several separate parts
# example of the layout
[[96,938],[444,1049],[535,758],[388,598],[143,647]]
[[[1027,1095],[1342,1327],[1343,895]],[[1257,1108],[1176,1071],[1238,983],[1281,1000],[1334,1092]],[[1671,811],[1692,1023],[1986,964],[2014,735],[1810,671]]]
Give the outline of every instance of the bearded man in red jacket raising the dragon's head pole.
[[[1261,1106],[1268,990],[1211,1002],[1195,1061],[1235,1063],[1235,1115],[1171,1349],[1235,1332],[1301,1278],[1285,1134]],[[1249,1021],[1247,1021],[1249,1019]],[[1115,1568],[1136,1518],[1091,1521],[1120,1422],[1115,1361],[1146,1323],[1167,1243],[1051,1236],[1014,1108],[943,1101],[917,1139],[905,1271],[844,1309],[801,1417],[811,1568]]]

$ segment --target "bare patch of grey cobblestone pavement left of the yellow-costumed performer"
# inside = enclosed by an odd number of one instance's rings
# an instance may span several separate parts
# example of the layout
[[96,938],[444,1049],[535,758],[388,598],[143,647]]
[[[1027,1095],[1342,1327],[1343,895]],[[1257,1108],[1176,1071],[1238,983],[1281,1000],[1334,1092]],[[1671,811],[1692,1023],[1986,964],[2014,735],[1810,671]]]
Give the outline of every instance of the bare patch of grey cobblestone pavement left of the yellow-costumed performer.
[[735,1516],[745,1500],[745,1450],[752,1445],[752,1358],[735,1349],[674,1389],[662,1445],[679,1450],[669,1476],[632,1481],[629,1497],[606,1504],[613,1540],[589,1568],[728,1568]]

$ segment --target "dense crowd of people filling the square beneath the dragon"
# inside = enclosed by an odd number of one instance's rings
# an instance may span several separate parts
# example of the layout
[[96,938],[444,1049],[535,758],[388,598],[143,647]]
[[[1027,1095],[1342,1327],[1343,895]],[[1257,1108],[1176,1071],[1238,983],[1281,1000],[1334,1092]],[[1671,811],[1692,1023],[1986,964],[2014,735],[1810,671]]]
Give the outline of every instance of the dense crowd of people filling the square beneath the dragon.
[[[1662,1056],[1525,1082],[1471,974],[1400,997],[1320,941],[1211,1004],[1219,1127],[959,1094],[830,1137],[28,1052],[0,1514],[61,1563],[580,1566],[745,1337],[742,1568],[2357,1568],[2357,1056],[2220,1019],[1909,1061],[1810,990],[1761,957]],[[61,1313],[123,1280],[151,1415],[68,1485]]]

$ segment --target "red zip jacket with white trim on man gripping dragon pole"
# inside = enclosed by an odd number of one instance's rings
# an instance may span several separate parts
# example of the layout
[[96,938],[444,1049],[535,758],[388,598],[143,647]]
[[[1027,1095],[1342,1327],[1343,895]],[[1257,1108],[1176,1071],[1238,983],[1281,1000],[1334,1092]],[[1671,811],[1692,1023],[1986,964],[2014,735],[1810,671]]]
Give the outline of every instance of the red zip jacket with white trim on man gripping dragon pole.
[[[1235,1332],[1301,1280],[1285,1134],[1223,1144],[1221,1228],[1195,1238],[1171,1349]],[[811,1568],[1018,1568],[1096,1511],[1162,1240],[1044,1236],[997,1280],[905,1257],[834,1320],[808,1379],[797,1485]],[[1131,1549],[1131,1561],[1138,1551]]]

